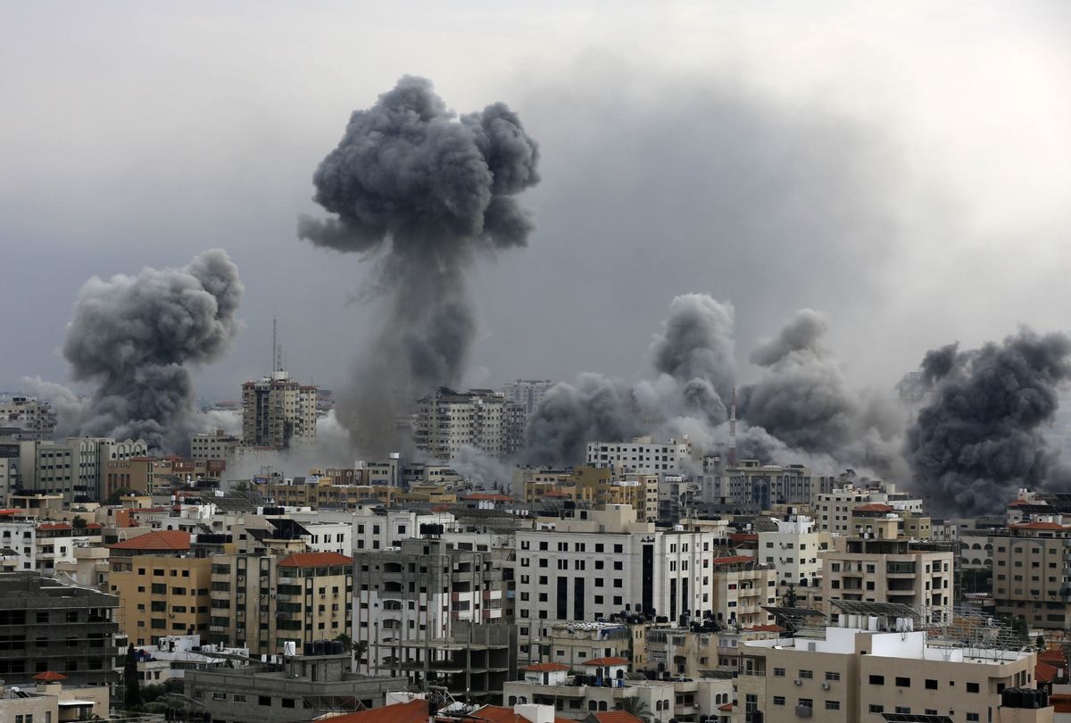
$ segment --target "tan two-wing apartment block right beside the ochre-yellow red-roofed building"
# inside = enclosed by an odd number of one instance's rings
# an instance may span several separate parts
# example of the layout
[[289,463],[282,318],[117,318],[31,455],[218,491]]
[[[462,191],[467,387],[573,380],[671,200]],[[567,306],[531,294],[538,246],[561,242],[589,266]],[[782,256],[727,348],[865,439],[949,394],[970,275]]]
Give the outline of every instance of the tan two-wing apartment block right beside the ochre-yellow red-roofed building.
[[352,632],[353,559],[338,553],[215,555],[209,639],[280,654]]

